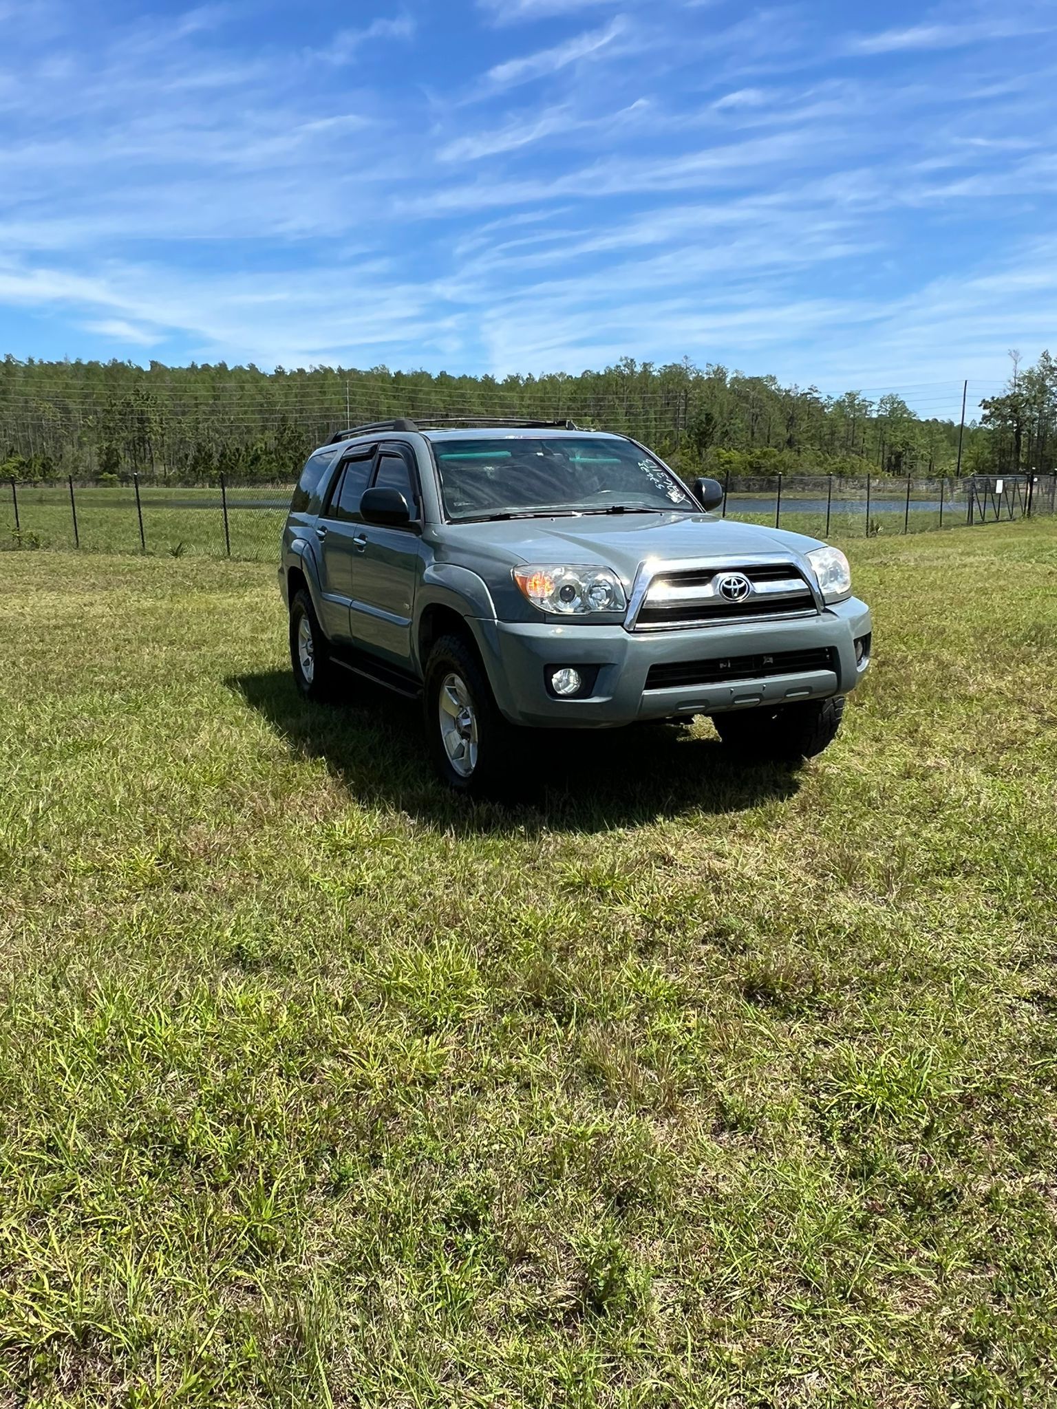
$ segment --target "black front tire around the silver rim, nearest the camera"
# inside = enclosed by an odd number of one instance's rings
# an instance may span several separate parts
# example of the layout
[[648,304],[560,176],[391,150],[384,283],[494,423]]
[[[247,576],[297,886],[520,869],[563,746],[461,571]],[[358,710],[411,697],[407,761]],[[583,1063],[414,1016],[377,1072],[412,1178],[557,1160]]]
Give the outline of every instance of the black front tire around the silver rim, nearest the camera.
[[[452,686],[452,682],[458,682],[458,686]],[[443,692],[451,706],[465,700],[469,709],[468,714],[465,707],[461,709],[458,716],[451,709],[444,712],[466,745],[462,757],[454,761],[445,745],[445,726],[441,723]],[[423,721],[434,766],[455,792],[496,796],[513,782],[517,731],[499,713],[476,648],[462,635],[443,635],[430,650],[423,689]]]

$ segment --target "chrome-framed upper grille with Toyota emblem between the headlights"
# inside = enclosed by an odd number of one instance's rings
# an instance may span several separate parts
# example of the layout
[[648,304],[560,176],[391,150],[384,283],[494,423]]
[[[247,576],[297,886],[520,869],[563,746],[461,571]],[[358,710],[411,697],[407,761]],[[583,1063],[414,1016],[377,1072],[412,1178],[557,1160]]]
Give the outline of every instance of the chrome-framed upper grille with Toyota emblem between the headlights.
[[[716,579],[729,572],[748,578],[751,593],[729,602],[716,590]],[[710,621],[746,621],[753,617],[799,616],[817,610],[806,578],[792,562],[723,564],[717,566],[660,569],[643,596],[634,630],[707,626]]]

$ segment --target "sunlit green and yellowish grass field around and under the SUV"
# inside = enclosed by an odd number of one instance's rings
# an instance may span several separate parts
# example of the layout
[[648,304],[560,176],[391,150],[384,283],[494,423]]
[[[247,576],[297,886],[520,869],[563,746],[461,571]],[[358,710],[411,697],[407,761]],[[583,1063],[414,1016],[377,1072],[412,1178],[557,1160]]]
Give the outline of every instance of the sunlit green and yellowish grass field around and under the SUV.
[[0,1403],[1057,1403],[1057,526],[833,748],[461,806],[271,566],[4,555]]

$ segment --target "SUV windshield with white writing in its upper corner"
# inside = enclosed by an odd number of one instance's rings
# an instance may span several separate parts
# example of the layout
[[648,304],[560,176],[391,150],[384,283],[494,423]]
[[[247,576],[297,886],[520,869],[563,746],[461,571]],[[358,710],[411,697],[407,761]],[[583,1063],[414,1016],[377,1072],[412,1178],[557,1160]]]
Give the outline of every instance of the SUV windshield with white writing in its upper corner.
[[448,519],[696,510],[682,485],[630,441],[506,435],[437,441]]

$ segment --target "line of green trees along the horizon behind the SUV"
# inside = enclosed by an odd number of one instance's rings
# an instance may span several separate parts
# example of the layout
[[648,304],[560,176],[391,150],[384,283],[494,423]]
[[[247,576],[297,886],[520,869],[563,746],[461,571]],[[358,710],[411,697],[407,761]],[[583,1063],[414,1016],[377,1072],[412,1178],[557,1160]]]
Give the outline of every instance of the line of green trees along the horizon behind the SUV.
[[[623,358],[578,376],[452,376],[317,366],[0,362],[0,472],[20,480],[289,482],[334,431],[397,416],[571,418],[634,435],[685,472],[953,475],[1053,469],[1057,362],[1049,352],[957,420],[899,396],[823,396],[689,361]],[[961,452],[960,452],[961,440]]]

